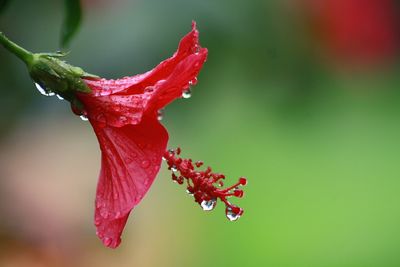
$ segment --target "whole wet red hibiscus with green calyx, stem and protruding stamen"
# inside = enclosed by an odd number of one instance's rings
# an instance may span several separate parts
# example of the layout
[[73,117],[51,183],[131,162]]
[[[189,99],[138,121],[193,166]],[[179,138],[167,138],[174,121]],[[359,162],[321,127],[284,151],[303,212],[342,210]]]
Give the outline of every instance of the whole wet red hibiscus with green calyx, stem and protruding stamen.
[[142,200],[156,177],[164,158],[178,184],[187,183],[204,210],[212,210],[219,199],[229,220],[237,220],[243,210],[228,201],[242,197],[238,182],[223,187],[225,176],[198,170],[203,163],[182,159],[181,150],[166,151],[168,133],[159,122],[162,108],[176,98],[187,97],[191,85],[207,58],[198,31],[180,42],[178,50],[153,70],[118,80],[100,79],[60,60],[64,53],[33,54],[0,33],[1,44],[21,58],[39,91],[71,102],[73,111],[90,121],[102,153],[96,192],[97,235],[107,247],[116,248],[132,209]]

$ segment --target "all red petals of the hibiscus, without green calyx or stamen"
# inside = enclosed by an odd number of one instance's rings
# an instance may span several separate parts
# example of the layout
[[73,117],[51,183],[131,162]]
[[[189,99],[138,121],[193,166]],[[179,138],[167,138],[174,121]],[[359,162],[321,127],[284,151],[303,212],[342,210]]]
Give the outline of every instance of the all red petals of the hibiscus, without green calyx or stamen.
[[118,80],[85,80],[92,92],[78,98],[102,152],[95,225],[106,246],[120,244],[129,213],[160,169],[168,133],[157,118],[159,110],[196,83],[206,58],[193,23],[177,52],[153,70]]

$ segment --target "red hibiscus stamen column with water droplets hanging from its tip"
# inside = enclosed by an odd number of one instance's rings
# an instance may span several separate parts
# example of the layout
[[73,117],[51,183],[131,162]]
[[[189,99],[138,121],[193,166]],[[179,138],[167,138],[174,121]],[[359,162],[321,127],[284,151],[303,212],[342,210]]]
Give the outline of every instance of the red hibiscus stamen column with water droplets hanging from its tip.
[[243,214],[243,209],[239,208],[228,201],[229,197],[243,197],[243,190],[239,186],[247,184],[244,177],[240,177],[239,181],[227,188],[221,188],[224,183],[225,175],[213,173],[210,167],[200,171],[195,168],[201,167],[204,163],[196,161],[193,163],[191,159],[182,159],[179,157],[181,149],[169,149],[164,153],[164,159],[168,164],[168,169],[172,171],[172,180],[178,184],[183,184],[186,179],[187,192],[193,195],[195,201],[203,208],[203,210],[212,210],[220,199],[226,206],[226,217],[230,221],[235,221]]

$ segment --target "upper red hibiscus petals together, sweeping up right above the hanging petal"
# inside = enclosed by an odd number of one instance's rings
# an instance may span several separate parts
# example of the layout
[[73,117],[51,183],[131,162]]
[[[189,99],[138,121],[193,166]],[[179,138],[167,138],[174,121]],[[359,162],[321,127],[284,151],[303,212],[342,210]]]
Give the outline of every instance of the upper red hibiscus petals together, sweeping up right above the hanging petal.
[[157,109],[181,97],[206,58],[207,49],[200,48],[193,23],[177,52],[153,70],[119,80],[85,80],[92,93],[78,97],[92,121],[114,127],[138,124],[144,113],[156,117]]

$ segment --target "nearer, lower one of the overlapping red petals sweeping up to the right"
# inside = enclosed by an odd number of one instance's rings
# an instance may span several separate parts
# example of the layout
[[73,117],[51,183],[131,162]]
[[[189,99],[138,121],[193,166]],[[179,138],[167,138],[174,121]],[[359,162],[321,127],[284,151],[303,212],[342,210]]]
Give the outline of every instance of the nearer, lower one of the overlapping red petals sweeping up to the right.
[[201,48],[174,65],[165,80],[159,80],[154,86],[146,87],[141,94],[81,94],[80,99],[91,120],[114,127],[138,124],[144,113],[156,117],[158,109],[181,97],[191,84],[195,84],[206,59],[207,49]]

